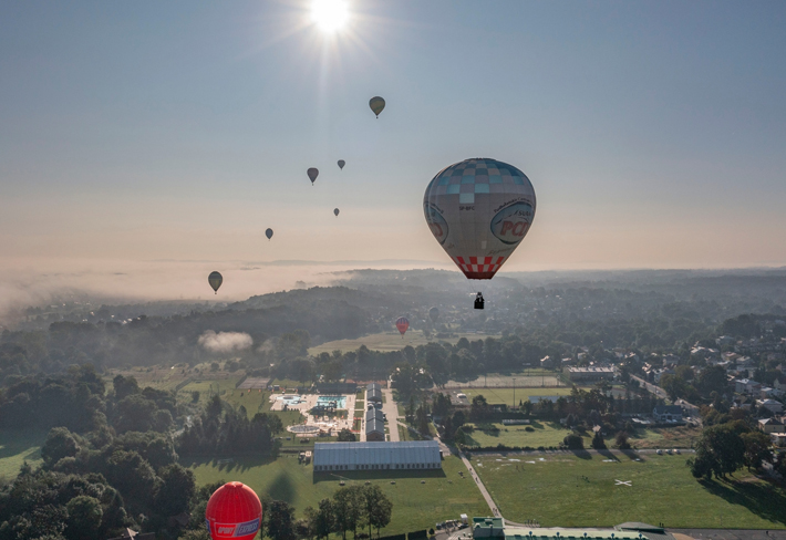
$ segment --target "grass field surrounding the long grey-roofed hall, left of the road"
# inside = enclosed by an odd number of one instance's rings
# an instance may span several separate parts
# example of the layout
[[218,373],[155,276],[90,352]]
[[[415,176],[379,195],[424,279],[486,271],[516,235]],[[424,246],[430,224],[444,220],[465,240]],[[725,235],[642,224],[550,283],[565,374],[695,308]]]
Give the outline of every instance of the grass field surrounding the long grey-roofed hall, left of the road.
[[[239,480],[257,492],[269,494],[272,498],[286,500],[302,517],[308,506],[317,507],[320,499],[330,497],[339,489],[339,478],[330,474],[313,477],[312,467],[298,464],[297,456],[280,457],[273,461],[242,458],[234,464],[193,464],[198,484],[218,480]],[[488,515],[480,492],[470,479],[463,479],[459,470],[466,470],[456,457],[443,461],[442,470],[407,471],[344,471],[348,482],[366,480],[379,484],[393,502],[393,517],[382,536],[415,531],[434,527],[436,521],[447,518]],[[465,475],[468,476],[468,475]],[[391,485],[395,480],[395,485]],[[421,484],[425,480],[425,484]]]

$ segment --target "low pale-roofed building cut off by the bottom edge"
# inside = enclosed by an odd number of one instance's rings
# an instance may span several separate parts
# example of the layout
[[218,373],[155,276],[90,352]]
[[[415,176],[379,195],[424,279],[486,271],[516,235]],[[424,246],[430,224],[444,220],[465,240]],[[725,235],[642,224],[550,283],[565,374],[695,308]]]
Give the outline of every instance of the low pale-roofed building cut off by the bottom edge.
[[475,539],[498,540],[563,540],[566,538],[592,540],[675,540],[662,527],[628,522],[613,529],[560,529],[540,527],[508,526],[504,518],[473,518],[472,533]]

